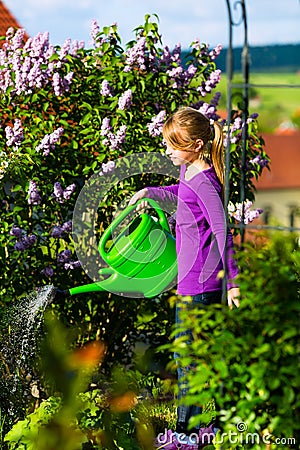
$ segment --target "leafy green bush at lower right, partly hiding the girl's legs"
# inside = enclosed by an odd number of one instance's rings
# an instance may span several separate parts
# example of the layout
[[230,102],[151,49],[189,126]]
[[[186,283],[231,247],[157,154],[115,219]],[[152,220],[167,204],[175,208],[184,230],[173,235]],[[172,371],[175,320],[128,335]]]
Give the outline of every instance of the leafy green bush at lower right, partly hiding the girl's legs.
[[[297,242],[275,235],[262,247],[246,246],[239,261],[238,309],[186,307],[182,313],[183,327],[192,329],[195,341],[190,345],[178,339],[172,351],[181,355],[184,366],[196,364],[184,401],[206,404],[214,398],[215,414],[228,435],[237,432],[240,422],[249,433],[272,435],[270,441],[299,435]],[[193,424],[207,419],[196,417]],[[262,440],[251,448],[261,445]],[[229,442],[224,448],[239,446]]]

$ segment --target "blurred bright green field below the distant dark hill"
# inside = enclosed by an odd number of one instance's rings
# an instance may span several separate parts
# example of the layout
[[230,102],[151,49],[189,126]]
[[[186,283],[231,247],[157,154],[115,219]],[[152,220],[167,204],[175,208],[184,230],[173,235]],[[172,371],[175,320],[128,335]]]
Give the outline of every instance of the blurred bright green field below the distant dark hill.
[[[235,75],[235,83],[242,82],[240,74]],[[250,83],[276,85],[275,87],[255,87],[250,89],[250,113],[259,113],[261,131],[272,132],[282,122],[291,121],[297,113],[300,123],[300,72],[299,73],[250,73]],[[279,87],[277,85],[283,85]],[[285,87],[292,85],[298,87]],[[217,88],[222,93],[220,107],[226,108],[227,77],[222,74]]]

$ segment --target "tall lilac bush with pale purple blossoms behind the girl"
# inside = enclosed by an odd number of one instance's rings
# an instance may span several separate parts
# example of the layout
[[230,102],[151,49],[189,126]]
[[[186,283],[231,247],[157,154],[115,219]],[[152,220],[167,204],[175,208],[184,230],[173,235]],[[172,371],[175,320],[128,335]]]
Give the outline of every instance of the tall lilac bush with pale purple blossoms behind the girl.
[[[187,54],[180,44],[170,49],[163,46],[150,16],[125,47],[116,24],[101,31],[94,20],[91,37],[91,49],[71,39],[59,47],[47,32],[24,42],[24,30],[10,28],[0,49],[2,211],[11,230],[26,230],[18,237],[4,232],[2,244],[12,266],[18,252],[24,261],[30,258],[33,269],[27,280],[32,276],[32,283],[35,274],[64,279],[62,268],[73,273],[79,266],[74,258],[61,264],[57,255],[73,251],[72,210],[84,177],[95,170],[106,176],[114,170],[115,158],[139,149],[163,151],[162,126],[178,106],[196,107],[211,122],[225,125],[218,114],[220,93],[214,92],[221,76],[215,64],[220,45],[210,49],[196,40]],[[233,220],[240,217],[244,126],[236,113],[229,132]],[[246,201],[252,202],[253,179],[269,159],[257,134],[256,115],[249,117],[247,127]],[[132,181],[132,191],[136,188]],[[121,199],[122,191],[116,195]],[[255,214],[248,214],[245,205],[244,216],[252,220]],[[108,220],[104,213],[103,221]]]

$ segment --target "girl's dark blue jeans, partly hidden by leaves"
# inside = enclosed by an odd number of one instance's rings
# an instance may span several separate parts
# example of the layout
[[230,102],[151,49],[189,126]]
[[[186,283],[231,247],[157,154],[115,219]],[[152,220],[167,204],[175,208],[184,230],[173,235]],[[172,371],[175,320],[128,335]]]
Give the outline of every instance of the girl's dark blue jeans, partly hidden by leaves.
[[[212,305],[213,303],[221,303],[222,301],[222,291],[214,291],[214,292],[204,292],[203,294],[198,294],[192,296],[192,300],[187,300],[185,306],[186,308],[195,309],[195,308],[205,308],[205,306]],[[181,323],[180,319],[180,311],[182,310],[182,303],[185,303],[184,298],[180,304],[176,305],[176,325]],[[185,331],[181,331],[180,333],[175,335],[175,338],[180,336],[188,336],[187,343],[192,343],[193,335],[191,330],[187,329]],[[174,354],[175,360],[179,358],[179,354]],[[188,385],[186,380],[184,379],[188,372],[193,368],[193,365],[188,367],[179,367],[177,368],[178,375],[178,401],[179,406],[177,408],[177,424],[176,431],[179,433],[187,433],[188,422],[192,416],[197,414],[201,414],[202,408],[197,405],[185,406],[180,404],[181,399],[185,397],[188,392]],[[199,428],[199,427],[197,427]],[[197,432],[197,428],[190,430],[189,433]]]

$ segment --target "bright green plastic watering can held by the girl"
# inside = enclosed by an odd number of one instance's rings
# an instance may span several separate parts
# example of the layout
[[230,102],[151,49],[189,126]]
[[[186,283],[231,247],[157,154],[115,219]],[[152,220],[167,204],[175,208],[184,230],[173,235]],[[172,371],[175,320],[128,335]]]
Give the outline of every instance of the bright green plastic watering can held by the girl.
[[[142,201],[155,210],[157,217],[141,212],[129,220],[130,213]],[[127,206],[104,231],[98,249],[109,266],[99,270],[100,281],[60,293],[67,296],[109,291],[151,298],[176,283],[175,239],[164,211],[153,199],[144,198]]]

